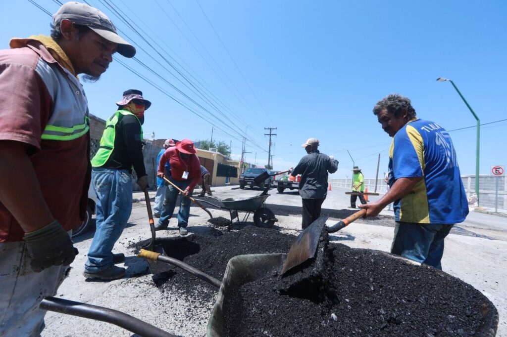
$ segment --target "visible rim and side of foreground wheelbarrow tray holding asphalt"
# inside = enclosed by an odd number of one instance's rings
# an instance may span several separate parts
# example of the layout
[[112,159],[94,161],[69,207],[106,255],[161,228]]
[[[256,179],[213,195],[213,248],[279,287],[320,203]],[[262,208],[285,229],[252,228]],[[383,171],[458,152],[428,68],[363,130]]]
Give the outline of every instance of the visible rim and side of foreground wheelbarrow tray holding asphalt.
[[[422,266],[418,262],[395,256],[384,251],[377,252],[379,255],[383,255],[387,258],[401,260],[407,264],[413,265],[414,268],[428,268],[427,266]],[[219,337],[225,334],[224,323],[227,308],[224,308],[224,303],[225,299],[231,296],[232,289],[245,283],[270,276],[274,271],[280,272],[285,258],[286,254],[250,254],[239,255],[229,260],[218,297],[216,298],[215,305],[213,306],[208,320],[206,328],[208,337]],[[456,281],[462,282],[458,278],[441,270],[435,268],[431,268],[431,270],[440,276],[453,278]],[[482,304],[481,312],[483,320],[481,326],[474,335],[481,337],[495,336],[498,326],[498,311],[495,306],[486,299]]]

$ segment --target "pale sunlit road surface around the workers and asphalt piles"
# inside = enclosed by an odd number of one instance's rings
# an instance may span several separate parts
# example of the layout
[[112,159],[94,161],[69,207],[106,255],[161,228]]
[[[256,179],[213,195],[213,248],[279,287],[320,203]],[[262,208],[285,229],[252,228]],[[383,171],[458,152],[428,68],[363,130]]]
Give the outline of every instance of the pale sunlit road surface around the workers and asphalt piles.
[[[240,190],[236,187],[215,187],[213,196],[248,197],[261,193],[261,190]],[[323,204],[325,212],[331,216],[328,225],[333,224],[342,214],[350,213],[349,196],[346,190],[333,188]],[[276,193],[270,191],[267,199],[269,207],[276,210],[278,222],[275,228],[284,233],[298,234],[301,228],[301,199],[296,191]],[[153,198],[155,192],[150,193]],[[142,193],[134,193],[135,199],[143,197]],[[375,199],[372,197],[371,199]],[[177,212],[177,208],[176,208]],[[229,217],[228,212],[211,209],[214,217]],[[191,208],[189,232],[209,235],[216,229],[210,228],[207,214],[199,207]],[[250,218],[251,224],[251,218]],[[376,221],[358,220],[331,236],[340,242],[356,248],[370,248],[389,251],[392,240],[392,214],[383,211]],[[499,336],[507,336],[507,231],[505,218],[492,215],[472,213],[467,221],[459,224],[463,230],[450,234],[446,239],[446,251],[443,259],[444,271],[459,277],[482,291],[497,307],[500,313]],[[378,225],[380,224],[380,226]],[[169,226],[175,226],[170,223]],[[170,227],[170,229],[175,229]],[[158,237],[177,236],[176,230],[157,232]],[[161,292],[154,287],[151,275],[146,274],[147,264],[133,256],[127,246],[132,242],[148,239],[148,219],[144,202],[135,202],[129,224],[117,242],[114,251],[124,252],[127,256],[124,267],[127,275],[124,279],[111,282],[90,282],[82,276],[86,253],[93,233],[79,237],[76,246],[80,255],[72,264],[67,279],[59,288],[57,297],[85,302],[93,305],[114,308],[140,318],[171,333],[185,336],[202,336],[205,334],[207,318],[212,302],[204,307],[196,307],[192,299],[182,298],[176,292]],[[174,287],[184,287],[175,284]],[[452,291],[452,289],[450,289]],[[185,314],[191,310],[193,319],[189,321]],[[114,335],[130,336],[131,333],[114,325],[92,322],[90,320],[48,313],[46,329],[43,336],[90,336]]]

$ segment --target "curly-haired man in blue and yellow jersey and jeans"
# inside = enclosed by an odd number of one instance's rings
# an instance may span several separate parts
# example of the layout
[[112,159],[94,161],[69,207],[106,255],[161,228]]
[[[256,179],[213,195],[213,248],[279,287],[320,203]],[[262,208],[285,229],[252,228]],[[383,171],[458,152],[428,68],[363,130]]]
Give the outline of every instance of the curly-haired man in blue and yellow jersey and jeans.
[[394,202],[391,253],[442,269],[444,239],[468,214],[451,137],[439,124],[417,118],[410,99],[401,95],[383,98],[373,113],[393,138],[390,189],[377,202],[359,207],[375,217]]

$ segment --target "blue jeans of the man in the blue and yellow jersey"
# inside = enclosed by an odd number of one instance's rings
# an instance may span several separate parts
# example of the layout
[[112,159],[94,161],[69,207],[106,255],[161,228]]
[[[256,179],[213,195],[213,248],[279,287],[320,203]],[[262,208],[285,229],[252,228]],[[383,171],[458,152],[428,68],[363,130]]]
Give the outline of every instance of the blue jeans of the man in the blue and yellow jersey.
[[442,270],[444,239],[452,226],[396,222],[391,253]]

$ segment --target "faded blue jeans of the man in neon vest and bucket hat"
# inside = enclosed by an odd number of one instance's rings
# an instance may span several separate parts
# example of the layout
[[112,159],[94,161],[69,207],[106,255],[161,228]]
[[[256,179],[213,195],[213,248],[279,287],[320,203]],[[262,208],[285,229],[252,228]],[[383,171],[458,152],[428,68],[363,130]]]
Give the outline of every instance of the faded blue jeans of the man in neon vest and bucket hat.
[[127,170],[94,167],[92,182],[97,194],[97,229],[85,271],[98,273],[113,265],[113,246],[132,212],[132,179]]

